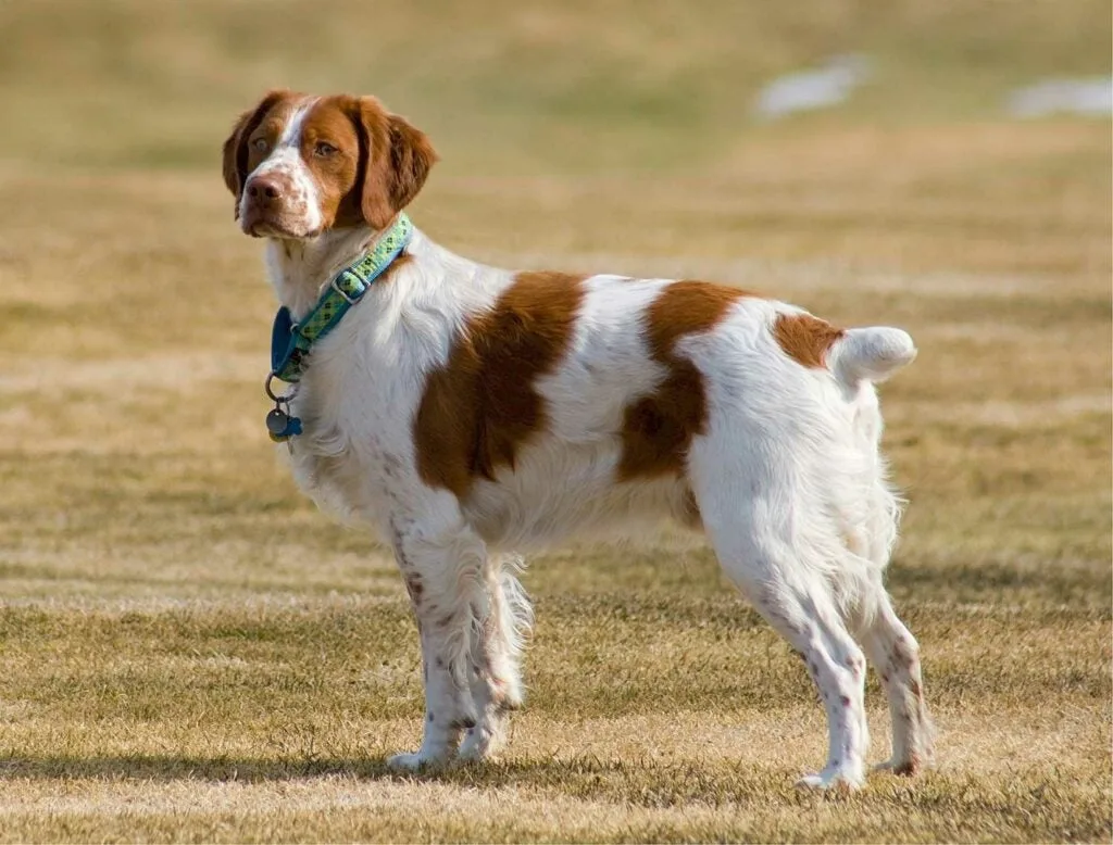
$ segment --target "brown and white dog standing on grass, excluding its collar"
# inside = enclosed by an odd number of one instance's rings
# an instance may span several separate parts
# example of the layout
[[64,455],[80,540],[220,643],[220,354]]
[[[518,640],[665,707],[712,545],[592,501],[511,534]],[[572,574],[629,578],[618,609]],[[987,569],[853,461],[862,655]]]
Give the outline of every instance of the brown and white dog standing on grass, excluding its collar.
[[[294,320],[435,159],[370,97],[273,91],[239,118],[224,178]],[[804,657],[830,749],[801,783],[863,783],[867,657],[893,718],[885,765],[927,764],[918,647],[881,583],[900,508],[874,389],[915,354],[899,329],[843,330],[735,288],[512,272],[415,231],[314,348],[289,441],[308,495],[388,539],[413,603],[425,733],[392,765],[503,742],[532,616],[518,553],[664,515],[706,533]]]

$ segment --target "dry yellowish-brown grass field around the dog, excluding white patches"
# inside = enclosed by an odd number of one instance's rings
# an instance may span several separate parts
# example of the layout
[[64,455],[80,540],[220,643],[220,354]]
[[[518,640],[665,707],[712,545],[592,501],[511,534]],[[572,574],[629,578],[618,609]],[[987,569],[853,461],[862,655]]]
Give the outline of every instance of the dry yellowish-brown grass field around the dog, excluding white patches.
[[[1104,0],[0,3],[0,841],[1109,842],[1110,125],[1002,102],[1109,74],[1110,29]],[[749,117],[846,51],[876,73],[845,106]],[[531,561],[501,763],[386,772],[414,624],[266,439],[274,302],[218,171],[276,84],[429,130],[413,216],[470,257],[913,334],[889,584],[936,771],[795,791],[804,668],[662,527]]]

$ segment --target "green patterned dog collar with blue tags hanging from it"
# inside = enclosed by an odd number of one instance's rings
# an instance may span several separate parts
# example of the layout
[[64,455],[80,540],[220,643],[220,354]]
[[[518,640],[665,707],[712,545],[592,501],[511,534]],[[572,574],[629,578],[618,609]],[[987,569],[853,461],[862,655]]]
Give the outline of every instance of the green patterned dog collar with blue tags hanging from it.
[[[266,420],[272,440],[285,443],[302,434],[302,420],[290,416],[289,400],[294,398],[297,382],[302,380],[309,364],[313,345],[336,328],[344,315],[406,248],[413,233],[414,226],[410,218],[404,213],[398,215],[394,226],[378,239],[370,252],[345,267],[328,282],[325,292],[304,320],[294,322],[286,306],[278,309],[270,329],[270,375],[267,376],[265,387],[267,396],[275,404]],[[275,379],[294,385],[294,390],[285,396],[275,394],[270,388],[270,382]]]

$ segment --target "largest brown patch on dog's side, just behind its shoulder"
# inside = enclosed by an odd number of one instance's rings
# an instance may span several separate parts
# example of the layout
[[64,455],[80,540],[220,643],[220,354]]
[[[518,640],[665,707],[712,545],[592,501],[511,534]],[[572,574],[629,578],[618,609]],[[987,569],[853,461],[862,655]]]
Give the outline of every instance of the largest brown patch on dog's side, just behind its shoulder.
[[518,450],[548,422],[535,382],[568,348],[583,278],[518,274],[469,321],[447,362],[429,375],[414,418],[422,480],[464,498],[476,478],[513,469]]

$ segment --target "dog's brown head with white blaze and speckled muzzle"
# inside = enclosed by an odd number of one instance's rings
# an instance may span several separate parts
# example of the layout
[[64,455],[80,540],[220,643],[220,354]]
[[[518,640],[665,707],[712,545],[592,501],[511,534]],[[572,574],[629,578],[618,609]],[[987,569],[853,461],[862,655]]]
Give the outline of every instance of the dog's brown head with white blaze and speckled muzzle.
[[374,97],[279,90],[239,117],[224,142],[224,181],[246,233],[304,240],[384,228],[435,161],[425,133]]

